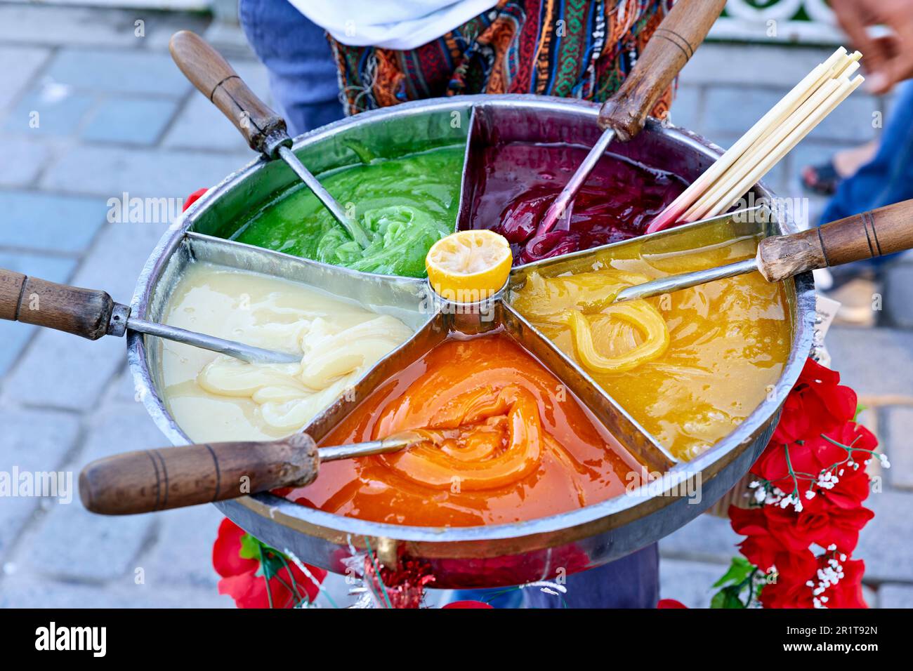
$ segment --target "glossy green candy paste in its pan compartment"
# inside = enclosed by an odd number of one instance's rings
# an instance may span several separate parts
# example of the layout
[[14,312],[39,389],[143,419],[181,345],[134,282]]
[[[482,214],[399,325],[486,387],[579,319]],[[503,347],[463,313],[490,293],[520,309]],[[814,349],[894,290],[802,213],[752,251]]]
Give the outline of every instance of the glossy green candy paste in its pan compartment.
[[375,159],[320,175],[372,239],[352,241],[303,184],[264,208],[234,239],[382,275],[425,277],[425,254],[456,230],[464,145]]

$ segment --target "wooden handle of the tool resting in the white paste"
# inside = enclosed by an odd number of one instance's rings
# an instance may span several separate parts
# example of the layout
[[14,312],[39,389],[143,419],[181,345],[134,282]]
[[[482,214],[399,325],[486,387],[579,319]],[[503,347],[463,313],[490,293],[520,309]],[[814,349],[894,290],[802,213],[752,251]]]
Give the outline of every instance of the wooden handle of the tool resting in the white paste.
[[0,320],[46,326],[97,341],[108,332],[115,305],[104,291],[69,287],[0,268]]

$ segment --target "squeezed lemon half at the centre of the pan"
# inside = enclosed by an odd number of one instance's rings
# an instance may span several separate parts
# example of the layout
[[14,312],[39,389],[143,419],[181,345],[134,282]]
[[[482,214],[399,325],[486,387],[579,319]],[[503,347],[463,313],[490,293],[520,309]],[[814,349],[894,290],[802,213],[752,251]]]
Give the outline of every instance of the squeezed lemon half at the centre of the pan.
[[504,236],[491,231],[457,231],[438,240],[425,257],[431,287],[457,303],[487,299],[504,286],[513,256]]

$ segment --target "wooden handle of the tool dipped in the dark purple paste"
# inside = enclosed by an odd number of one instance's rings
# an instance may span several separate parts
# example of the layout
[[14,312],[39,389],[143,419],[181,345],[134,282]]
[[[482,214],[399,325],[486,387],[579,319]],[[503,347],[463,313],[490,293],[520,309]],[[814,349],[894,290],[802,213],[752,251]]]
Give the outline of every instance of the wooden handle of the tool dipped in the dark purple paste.
[[599,125],[627,142],[644,129],[646,117],[672,80],[700,47],[726,0],[678,0],[646,43],[621,88],[599,110]]

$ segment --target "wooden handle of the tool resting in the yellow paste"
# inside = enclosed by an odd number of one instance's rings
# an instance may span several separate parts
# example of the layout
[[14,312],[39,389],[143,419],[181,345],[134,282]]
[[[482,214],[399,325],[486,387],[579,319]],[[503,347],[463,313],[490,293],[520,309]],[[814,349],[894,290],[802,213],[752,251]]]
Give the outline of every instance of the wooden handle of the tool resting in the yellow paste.
[[840,266],[913,247],[913,200],[847,216],[758,246],[758,269],[769,282],[805,270]]

